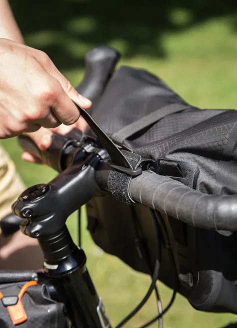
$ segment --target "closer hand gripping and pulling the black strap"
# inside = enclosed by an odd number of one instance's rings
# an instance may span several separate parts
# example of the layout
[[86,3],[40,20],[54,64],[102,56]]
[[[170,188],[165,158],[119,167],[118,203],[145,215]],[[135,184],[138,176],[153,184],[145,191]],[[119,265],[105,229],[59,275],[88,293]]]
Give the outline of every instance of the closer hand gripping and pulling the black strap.
[[91,105],[44,52],[0,38],[0,138],[75,123],[79,111],[70,98]]

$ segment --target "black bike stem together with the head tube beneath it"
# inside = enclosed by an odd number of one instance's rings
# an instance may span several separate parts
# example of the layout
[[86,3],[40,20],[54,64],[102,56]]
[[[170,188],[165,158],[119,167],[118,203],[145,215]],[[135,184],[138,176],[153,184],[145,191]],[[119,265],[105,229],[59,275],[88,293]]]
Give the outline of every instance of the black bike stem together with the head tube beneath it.
[[97,153],[88,154],[48,184],[26,189],[12,205],[14,213],[25,218],[21,231],[38,239],[44,272],[65,304],[73,328],[111,328],[86,269],[85,253],[73,243],[65,226],[78,206],[103,194],[96,182],[91,183],[100,159]]

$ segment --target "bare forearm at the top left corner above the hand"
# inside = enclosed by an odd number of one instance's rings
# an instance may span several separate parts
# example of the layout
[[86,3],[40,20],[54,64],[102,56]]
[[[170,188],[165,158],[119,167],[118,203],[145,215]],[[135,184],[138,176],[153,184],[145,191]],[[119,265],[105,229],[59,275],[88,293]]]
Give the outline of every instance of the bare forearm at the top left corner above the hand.
[[23,36],[7,0],[0,0],[0,38],[24,43]]

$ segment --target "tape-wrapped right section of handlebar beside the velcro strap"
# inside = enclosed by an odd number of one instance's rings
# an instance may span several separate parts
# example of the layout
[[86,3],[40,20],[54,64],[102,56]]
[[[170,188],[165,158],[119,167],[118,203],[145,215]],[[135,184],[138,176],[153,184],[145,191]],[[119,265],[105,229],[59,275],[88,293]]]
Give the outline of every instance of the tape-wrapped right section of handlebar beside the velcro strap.
[[237,195],[209,195],[167,176],[143,172],[129,183],[130,197],[190,225],[237,230]]

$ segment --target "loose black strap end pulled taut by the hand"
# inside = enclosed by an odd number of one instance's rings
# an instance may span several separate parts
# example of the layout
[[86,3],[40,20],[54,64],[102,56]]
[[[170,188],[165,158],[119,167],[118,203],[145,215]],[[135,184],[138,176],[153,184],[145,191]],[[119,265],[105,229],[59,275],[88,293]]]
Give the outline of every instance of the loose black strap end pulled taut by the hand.
[[99,142],[107,150],[111,160],[119,166],[132,168],[132,166],[130,165],[126,157],[123,155],[123,153],[118,149],[115,143],[107,136],[107,134],[98,126],[98,124],[93,120],[93,118],[88,114],[88,112],[85,111],[83,108],[81,108],[77,103],[75,103],[75,105],[78,107],[80,111],[80,115],[84,118],[86,123],[96,134]]

